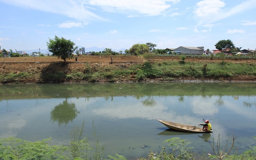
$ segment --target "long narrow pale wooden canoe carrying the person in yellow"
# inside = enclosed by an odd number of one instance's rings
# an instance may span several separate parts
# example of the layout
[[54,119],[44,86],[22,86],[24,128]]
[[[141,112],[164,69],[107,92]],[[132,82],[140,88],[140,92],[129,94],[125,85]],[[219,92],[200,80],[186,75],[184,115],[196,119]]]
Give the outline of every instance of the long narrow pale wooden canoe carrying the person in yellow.
[[201,130],[202,128],[197,127],[197,126],[193,126],[193,125],[188,125],[188,124],[181,124],[181,123],[163,121],[163,120],[160,120],[160,119],[157,119],[157,121],[161,122],[166,127],[169,127],[173,130],[182,131],[182,132],[191,132],[191,133],[213,132],[213,130],[211,130],[211,131],[202,131]]

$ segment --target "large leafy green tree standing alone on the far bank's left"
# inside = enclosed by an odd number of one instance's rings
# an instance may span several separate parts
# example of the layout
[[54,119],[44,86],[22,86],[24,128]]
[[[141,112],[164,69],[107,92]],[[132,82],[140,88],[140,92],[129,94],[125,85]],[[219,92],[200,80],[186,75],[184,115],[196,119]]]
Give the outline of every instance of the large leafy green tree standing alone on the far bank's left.
[[49,38],[49,42],[47,42],[49,52],[52,52],[52,55],[58,56],[58,58],[61,58],[65,62],[67,59],[73,58],[73,52],[77,49],[77,46],[74,47],[74,45],[74,42],[57,36],[54,39]]

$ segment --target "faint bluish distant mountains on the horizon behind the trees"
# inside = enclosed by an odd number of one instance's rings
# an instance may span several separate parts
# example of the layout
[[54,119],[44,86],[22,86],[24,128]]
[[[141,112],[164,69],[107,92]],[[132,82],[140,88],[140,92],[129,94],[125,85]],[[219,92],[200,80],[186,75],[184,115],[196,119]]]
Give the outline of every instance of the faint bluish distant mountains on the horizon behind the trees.
[[[82,46],[78,46],[78,48],[82,48]],[[88,48],[84,48],[85,49],[85,52],[102,52],[103,50],[105,50],[106,48],[99,48],[99,47],[88,47]],[[115,52],[119,52],[119,51],[125,51],[125,49],[112,49],[112,51],[115,51]],[[32,52],[39,52],[39,49],[34,49],[34,50],[25,50],[26,53],[28,54],[32,54]],[[43,54],[47,54],[49,51],[48,49],[40,49],[40,52],[43,53]],[[51,53],[50,53],[51,54]]]

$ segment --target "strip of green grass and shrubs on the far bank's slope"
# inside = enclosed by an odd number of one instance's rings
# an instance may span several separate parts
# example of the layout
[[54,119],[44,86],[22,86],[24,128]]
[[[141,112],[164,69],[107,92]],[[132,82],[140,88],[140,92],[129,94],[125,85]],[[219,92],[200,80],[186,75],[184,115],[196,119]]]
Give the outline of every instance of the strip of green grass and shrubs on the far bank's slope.
[[[163,61],[139,64],[111,66],[93,66],[93,63],[84,63],[84,68],[71,71],[68,63],[56,63],[63,70],[51,69],[47,72],[17,72],[0,74],[1,83],[19,83],[34,80],[39,77],[42,83],[62,82],[117,82],[117,81],[147,81],[148,79],[162,79],[174,81],[175,79],[232,79],[234,76],[256,76],[256,64],[247,63],[197,63],[181,61]],[[45,69],[43,69],[45,70]]]

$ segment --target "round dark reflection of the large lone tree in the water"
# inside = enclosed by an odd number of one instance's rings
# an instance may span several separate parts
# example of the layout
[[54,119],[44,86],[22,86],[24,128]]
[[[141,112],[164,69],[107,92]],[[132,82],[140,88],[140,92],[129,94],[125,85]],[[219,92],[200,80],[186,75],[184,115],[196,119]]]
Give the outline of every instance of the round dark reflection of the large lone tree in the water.
[[80,113],[76,110],[75,103],[68,103],[67,98],[63,101],[63,104],[55,106],[51,112],[51,120],[53,122],[58,121],[58,124],[68,124],[69,121],[73,122],[73,119],[76,118],[77,114]]

